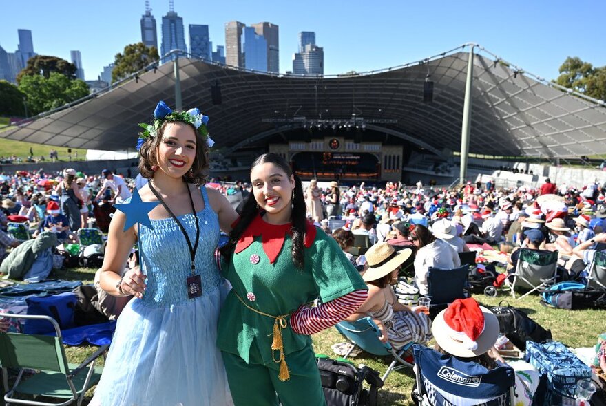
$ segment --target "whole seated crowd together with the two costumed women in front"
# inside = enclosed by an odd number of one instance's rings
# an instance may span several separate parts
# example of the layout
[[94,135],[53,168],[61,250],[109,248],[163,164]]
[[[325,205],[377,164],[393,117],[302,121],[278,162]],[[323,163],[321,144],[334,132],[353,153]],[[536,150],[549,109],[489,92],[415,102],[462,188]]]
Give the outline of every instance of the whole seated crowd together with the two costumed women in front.
[[[67,168],[0,182],[3,255],[19,245],[8,227],[15,222],[58,243],[77,242],[89,225],[107,233],[96,286],[125,300],[92,405],[322,405],[311,335],[367,316],[394,348],[435,338],[443,354],[499,367],[494,315],[465,299],[432,321],[426,306],[398,301],[393,285],[404,265],[412,262],[421,295],[429,268],[457,268],[459,253],[485,244],[513,251],[510,266],[520,246],[558,250],[575,263],[567,276],[583,278],[606,242],[597,184],[333,181],[324,189],[315,180],[304,186],[272,153],[253,162],[244,182],[209,182],[207,121],[198,109],[158,103],[137,143],[138,180]],[[149,222],[134,225],[142,216]],[[227,244],[216,255],[220,232]],[[357,236],[370,243],[362,255],[351,249]],[[126,268],[133,246],[138,259]]]

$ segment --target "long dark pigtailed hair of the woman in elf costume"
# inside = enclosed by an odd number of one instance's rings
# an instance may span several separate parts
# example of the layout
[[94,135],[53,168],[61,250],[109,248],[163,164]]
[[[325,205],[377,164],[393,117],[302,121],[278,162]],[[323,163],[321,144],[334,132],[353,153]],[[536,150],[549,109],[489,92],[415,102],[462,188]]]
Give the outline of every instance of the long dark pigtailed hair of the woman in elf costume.
[[[289,178],[291,175],[295,178],[295,190],[293,193],[293,211],[291,213],[291,235],[293,241],[292,257],[293,262],[297,268],[303,269],[304,266],[304,237],[307,226],[305,197],[303,195],[303,185],[300,178],[293,173],[290,165],[282,156],[276,153],[264,153],[259,156],[251,165],[251,171],[254,167],[260,164],[274,164],[280,167],[286,176]],[[247,200],[244,202],[242,207],[242,213],[240,214],[240,221],[229,233],[229,241],[221,249],[220,253],[225,258],[231,258],[233,250],[236,248],[236,243],[244,230],[253,222],[256,216],[260,215],[255,200],[254,193],[249,193]]]

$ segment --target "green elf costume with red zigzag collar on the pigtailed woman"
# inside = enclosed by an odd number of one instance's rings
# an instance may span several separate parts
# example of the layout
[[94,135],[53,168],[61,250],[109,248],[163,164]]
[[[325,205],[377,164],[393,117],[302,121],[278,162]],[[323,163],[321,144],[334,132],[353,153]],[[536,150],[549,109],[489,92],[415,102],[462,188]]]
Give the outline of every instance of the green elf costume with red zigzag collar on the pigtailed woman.
[[[290,314],[315,299],[327,303],[368,289],[337,242],[312,224],[304,238],[304,269],[296,268],[290,228],[291,224],[274,225],[256,217],[242,233],[231,260],[222,264],[233,288],[221,310],[217,345],[236,405],[243,396],[248,397],[247,405],[275,404],[267,403],[275,392],[284,405],[323,405],[311,337],[293,332]],[[280,316],[282,328],[275,319]],[[281,333],[283,356],[281,350],[272,350],[275,328]],[[277,379],[281,361],[287,363],[288,381],[282,374]],[[314,392],[313,387],[320,399],[302,398],[303,392]],[[285,401],[293,394],[292,402]],[[315,403],[305,403],[310,401]]]

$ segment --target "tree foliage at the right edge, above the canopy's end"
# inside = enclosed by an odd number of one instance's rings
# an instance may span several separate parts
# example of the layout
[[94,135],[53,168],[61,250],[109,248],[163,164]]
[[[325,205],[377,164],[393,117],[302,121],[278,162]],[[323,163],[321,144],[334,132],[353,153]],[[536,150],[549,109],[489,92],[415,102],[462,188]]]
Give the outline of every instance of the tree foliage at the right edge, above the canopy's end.
[[578,56],[566,58],[560,66],[556,83],[589,97],[606,100],[606,66],[594,67]]

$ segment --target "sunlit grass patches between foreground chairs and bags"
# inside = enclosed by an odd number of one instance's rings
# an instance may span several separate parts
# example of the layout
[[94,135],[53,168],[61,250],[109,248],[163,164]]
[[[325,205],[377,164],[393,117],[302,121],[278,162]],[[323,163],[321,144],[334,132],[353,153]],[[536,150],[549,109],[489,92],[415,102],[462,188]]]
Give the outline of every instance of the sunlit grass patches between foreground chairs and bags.
[[[92,283],[95,269],[92,268],[70,268],[61,270],[52,275],[52,277],[80,280],[83,283]],[[562,341],[570,347],[589,347],[596,344],[597,335],[606,330],[604,323],[604,311],[598,310],[556,310],[545,308],[539,303],[538,295],[530,295],[522,300],[512,299],[503,291],[499,292],[496,298],[486,297],[484,295],[474,295],[474,297],[484,306],[498,306],[499,301],[505,299],[512,306],[522,308],[527,314],[536,320],[543,327],[552,330],[554,340]],[[344,338],[334,329],[330,328],[313,336],[315,352],[318,354],[327,354],[333,358],[337,357],[331,350],[331,345],[345,341]],[[434,343],[431,342],[430,345]],[[80,347],[68,347],[67,358],[70,362],[80,362],[92,354],[96,347],[92,345],[83,345]],[[102,362],[103,360],[101,360]],[[383,374],[390,362],[387,358],[371,356],[365,352],[351,359],[355,365],[364,364],[378,370]],[[382,389],[379,390],[379,405],[412,405],[410,400],[410,391],[415,381],[412,370],[404,369],[392,372]],[[92,390],[87,394],[87,405],[92,396]],[[49,399],[50,400],[50,399]],[[3,403],[0,401],[0,405]]]

